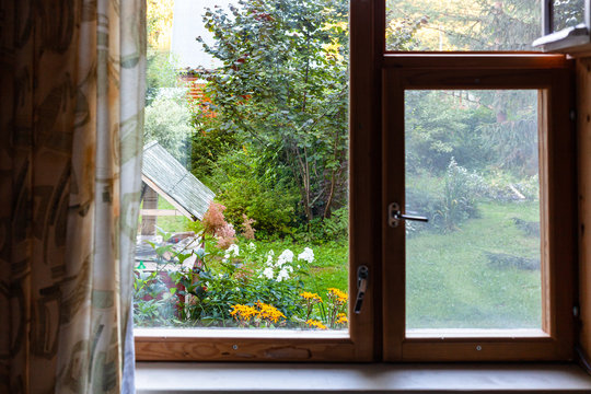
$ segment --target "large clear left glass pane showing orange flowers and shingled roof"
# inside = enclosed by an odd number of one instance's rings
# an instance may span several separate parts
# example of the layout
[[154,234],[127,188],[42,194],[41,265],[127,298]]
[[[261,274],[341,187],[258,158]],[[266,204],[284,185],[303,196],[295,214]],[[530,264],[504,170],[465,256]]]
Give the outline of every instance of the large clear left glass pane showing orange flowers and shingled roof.
[[347,21],[148,0],[137,327],[347,328]]

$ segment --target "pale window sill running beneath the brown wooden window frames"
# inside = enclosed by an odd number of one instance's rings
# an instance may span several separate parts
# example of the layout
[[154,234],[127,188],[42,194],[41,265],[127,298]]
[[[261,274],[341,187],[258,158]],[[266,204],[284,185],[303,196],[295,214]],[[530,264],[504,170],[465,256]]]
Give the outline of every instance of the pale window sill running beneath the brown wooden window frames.
[[138,394],[157,393],[591,393],[569,363],[138,362]]

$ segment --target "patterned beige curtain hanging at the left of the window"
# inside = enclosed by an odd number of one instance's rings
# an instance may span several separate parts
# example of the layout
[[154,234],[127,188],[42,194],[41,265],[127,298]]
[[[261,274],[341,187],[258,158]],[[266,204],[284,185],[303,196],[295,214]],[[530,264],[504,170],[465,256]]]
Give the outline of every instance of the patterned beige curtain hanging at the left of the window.
[[134,392],[143,0],[0,1],[0,393]]

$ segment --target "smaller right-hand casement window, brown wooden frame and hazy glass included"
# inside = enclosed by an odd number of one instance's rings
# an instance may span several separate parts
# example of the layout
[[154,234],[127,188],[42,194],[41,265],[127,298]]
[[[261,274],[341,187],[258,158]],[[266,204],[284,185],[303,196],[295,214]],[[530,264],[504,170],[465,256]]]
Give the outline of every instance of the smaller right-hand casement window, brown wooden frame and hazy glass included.
[[571,65],[391,54],[382,100],[384,360],[572,359]]

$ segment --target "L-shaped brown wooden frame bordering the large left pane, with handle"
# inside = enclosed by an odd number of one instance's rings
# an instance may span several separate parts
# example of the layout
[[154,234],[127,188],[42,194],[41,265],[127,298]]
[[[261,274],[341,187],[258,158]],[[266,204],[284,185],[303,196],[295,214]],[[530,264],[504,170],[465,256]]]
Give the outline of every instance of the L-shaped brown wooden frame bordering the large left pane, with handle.
[[[381,354],[380,128],[373,0],[350,1],[349,332],[136,329],[138,361],[378,361]],[[368,43],[372,45],[368,46]],[[369,60],[369,61],[368,61]],[[370,271],[355,314],[357,269]],[[378,313],[376,313],[378,311]]]

